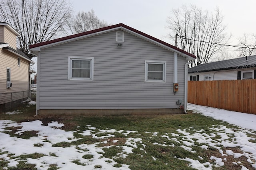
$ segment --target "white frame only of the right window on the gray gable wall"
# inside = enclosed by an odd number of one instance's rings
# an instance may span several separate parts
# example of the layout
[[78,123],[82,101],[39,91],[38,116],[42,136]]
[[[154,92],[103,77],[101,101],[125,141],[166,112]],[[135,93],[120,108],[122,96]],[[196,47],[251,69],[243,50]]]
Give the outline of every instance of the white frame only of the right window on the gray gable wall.
[[[148,64],[163,65],[163,80],[148,80]],[[166,82],[166,61],[145,60],[145,82]]]

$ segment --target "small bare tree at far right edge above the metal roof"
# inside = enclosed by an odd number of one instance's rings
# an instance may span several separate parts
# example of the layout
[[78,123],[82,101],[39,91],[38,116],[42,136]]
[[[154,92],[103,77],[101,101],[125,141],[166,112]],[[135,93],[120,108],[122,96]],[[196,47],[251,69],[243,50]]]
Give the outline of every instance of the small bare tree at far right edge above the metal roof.
[[256,35],[246,35],[244,37],[239,37],[238,41],[240,42],[241,51],[240,55],[243,57],[250,56],[256,54]]

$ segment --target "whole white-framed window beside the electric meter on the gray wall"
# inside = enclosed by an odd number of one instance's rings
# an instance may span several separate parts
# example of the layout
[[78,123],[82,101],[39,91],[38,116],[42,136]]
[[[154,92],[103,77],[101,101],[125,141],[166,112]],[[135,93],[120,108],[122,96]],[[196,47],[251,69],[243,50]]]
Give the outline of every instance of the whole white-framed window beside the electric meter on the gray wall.
[[145,61],[145,82],[166,82],[166,61]]

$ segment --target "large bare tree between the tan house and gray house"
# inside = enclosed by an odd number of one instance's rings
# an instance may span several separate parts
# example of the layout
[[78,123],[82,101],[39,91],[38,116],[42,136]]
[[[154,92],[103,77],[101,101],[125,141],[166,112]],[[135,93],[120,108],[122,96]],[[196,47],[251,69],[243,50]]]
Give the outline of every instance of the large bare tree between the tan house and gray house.
[[0,0],[0,4],[0,19],[20,33],[18,46],[30,58],[28,46],[58,37],[72,10],[66,0]]

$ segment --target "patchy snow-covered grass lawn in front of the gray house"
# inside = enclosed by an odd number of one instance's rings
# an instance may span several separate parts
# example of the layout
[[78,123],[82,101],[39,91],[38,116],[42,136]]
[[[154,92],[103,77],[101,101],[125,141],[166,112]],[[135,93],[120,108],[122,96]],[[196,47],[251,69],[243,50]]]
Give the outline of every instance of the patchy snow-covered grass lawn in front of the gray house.
[[4,170],[256,169],[256,115],[188,107],[215,119],[189,113],[77,117],[65,123],[0,120],[0,165]]

